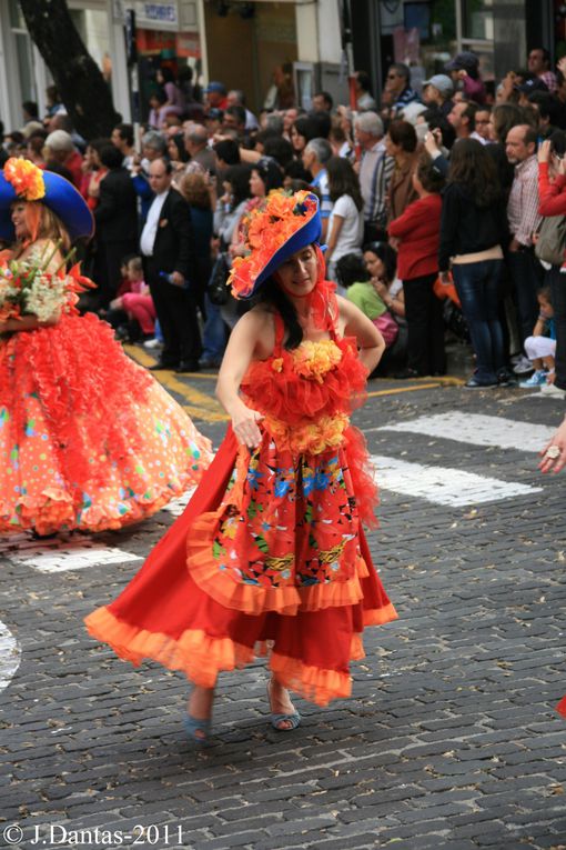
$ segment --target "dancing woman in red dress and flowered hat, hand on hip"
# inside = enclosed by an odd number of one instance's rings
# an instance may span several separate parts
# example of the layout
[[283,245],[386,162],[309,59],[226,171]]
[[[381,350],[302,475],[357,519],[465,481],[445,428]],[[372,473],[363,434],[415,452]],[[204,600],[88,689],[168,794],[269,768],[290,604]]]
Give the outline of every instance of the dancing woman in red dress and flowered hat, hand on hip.
[[324,280],[317,200],[272,193],[234,261],[234,328],[218,382],[232,422],[184,514],[90,633],[133,663],[194,683],[185,728],[210,734],[214,686],[267,654],[272,724],[295,728],[287,688],[319,706],[351,692],[366,626],[395,619],[361,522],[376,489],[350,414],[384,342]]

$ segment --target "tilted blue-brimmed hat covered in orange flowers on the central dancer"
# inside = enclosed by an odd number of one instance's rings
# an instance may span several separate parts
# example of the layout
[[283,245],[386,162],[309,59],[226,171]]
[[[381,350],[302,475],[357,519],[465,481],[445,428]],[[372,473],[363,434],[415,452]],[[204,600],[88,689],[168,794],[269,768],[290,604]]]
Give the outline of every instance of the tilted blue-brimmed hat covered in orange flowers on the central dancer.
[[319,244],[322,234],[319,198],[312,192],[271,192],[247,221],[245,257],[232,263],[229,284],[234,298],[247,299],[292,254]]

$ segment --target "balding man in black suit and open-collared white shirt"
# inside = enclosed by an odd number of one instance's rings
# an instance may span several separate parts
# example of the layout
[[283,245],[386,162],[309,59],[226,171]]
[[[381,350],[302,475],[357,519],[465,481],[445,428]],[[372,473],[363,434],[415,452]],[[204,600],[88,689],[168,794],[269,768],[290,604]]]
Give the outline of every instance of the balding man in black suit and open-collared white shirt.
[[201,334],[192,279],[194,246],[189,204],[171,186],[171,162],[150,164],[149,181],[155,197],[148,211],[140,247],[145,282],[150,287],[163,333],[161,358],[151,369],[198,372]]

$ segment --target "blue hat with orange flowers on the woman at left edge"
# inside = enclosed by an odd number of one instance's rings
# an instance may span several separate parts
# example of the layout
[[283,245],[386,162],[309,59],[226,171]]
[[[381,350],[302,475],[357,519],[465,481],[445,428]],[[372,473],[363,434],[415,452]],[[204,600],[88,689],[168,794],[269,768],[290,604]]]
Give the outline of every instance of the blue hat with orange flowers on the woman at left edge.
[[12,157],[0,172],[0,239],[16,238],[10,208],[18,200],[44,203],[61,219],[71,239],[91,237],[94,232],[92,212],[69,180],[42,171],[27,159]]

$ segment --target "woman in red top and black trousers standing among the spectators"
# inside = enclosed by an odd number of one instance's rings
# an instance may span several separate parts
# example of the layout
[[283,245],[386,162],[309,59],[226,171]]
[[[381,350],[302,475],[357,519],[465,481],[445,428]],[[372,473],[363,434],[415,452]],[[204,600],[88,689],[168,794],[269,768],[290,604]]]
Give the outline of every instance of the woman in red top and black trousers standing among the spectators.
[[433,168],[428,154],[418,160],[413,186],[418,200],[410,203],[387,229],[392,246],[398,250],[397,274],[403,280],[408,330],[407,367],[395,378],[446,371],[442,302],[433,290],[438,277],[444,178]]

